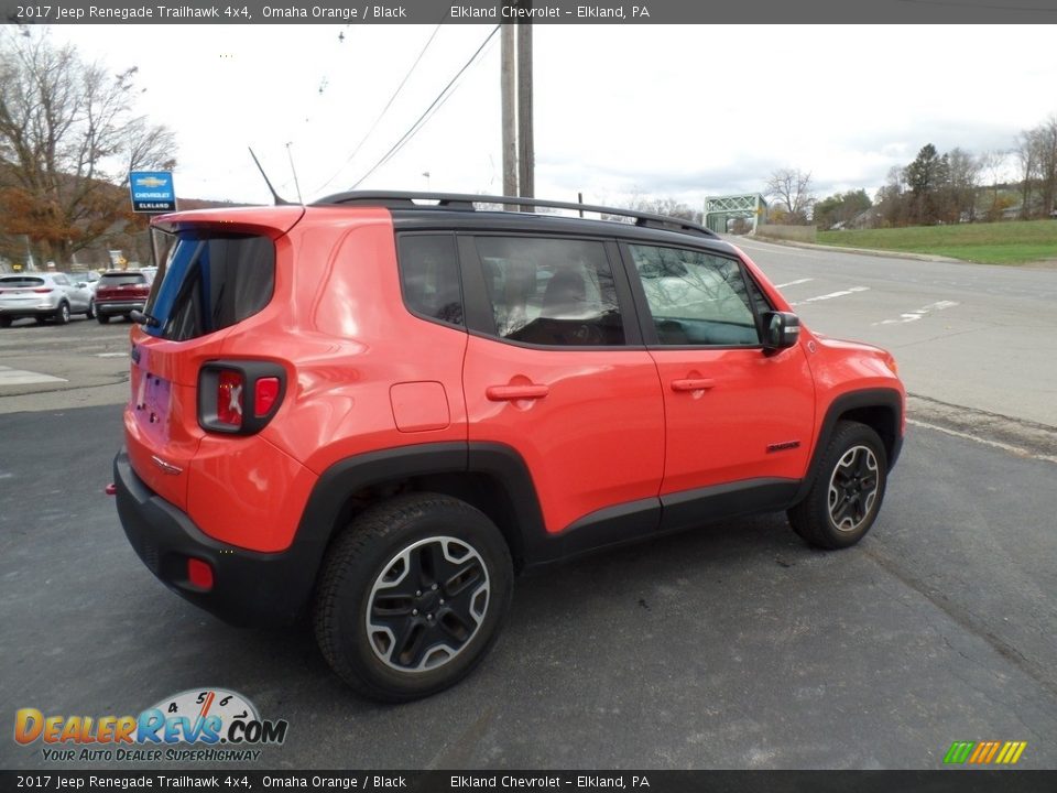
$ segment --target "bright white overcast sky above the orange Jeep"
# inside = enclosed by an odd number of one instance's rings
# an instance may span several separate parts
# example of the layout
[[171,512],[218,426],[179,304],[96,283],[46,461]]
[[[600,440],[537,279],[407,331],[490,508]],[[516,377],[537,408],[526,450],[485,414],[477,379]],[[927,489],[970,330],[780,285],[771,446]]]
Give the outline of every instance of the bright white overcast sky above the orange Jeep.
[[[177,135],[181,197],[270,203],[248,145],[287,198],[287,143],[305,200],[348,189],[491,30],[56,25],[51,35],[115,70],[139,67],[139,107]],[[819,197],[859,187],[872,197],[926,143],[1009,149],[1057,113],[1055,41],[1057,25],[537,25],[536,195],[699,206],[795,167]],[[497,34],[360,188],[501,193],[499,53]]]

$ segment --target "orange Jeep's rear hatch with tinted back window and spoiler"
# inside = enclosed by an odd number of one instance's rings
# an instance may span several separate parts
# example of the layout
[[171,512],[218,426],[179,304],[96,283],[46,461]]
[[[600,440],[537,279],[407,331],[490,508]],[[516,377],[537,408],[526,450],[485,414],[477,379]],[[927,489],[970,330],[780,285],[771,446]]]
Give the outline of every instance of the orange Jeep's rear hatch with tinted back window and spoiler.
[[145,322],[131,335],[126,443],[139,477],[181,509],[187,503],[188,465],[205,435],[198,394],[203,368],[220,359],[235,325],[272,300],[275,240],[302,213],[301,207],[255,210],[274,222],[269,226],[239,222],[232,216],[240,210],[154,221],[159,270]]

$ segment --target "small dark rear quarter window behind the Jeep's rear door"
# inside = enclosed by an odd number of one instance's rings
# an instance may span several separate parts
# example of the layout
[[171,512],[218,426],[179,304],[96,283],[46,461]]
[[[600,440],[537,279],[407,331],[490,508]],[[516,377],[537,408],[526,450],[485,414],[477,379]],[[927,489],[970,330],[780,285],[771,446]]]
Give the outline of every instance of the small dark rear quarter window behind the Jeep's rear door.
[[429,319],[462,324],[459,262],[451,235],[405,235],[397,242],[406,306]]

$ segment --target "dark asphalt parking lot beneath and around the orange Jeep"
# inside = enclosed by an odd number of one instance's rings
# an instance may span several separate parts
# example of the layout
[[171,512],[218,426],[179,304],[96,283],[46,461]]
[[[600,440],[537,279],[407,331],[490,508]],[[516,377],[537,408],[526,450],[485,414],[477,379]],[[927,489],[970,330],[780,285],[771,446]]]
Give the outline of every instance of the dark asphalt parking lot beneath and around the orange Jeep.
[[[66,383],[0,382],[4,718],[224,687],[290,723],[262,768],[936,769],[956,740],[1027,741],[1021,768],[1057,768],[1045,441],[1028,454],[912,425],[879,522],[844,552],[808,548],[776,514],[522,578],[471,677],[388,707],[345,689],[307,630],[229,628],[135,557],[102,495],[128,326],[13,332],[0,367]],[[64,767],[108,765],[128,768]],[[4,740],[0,768],[56,763]]]

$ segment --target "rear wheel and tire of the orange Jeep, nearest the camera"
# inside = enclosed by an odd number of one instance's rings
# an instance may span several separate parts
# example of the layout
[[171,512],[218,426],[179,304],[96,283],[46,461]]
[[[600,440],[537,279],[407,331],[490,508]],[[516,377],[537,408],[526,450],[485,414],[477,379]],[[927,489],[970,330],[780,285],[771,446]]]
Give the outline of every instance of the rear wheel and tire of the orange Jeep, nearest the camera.
[[510,550],[482,512],[447,496],[400,496],[361,513],[327,552],[316,639],[359,694],[417,699],[481,662],[512,587]]

